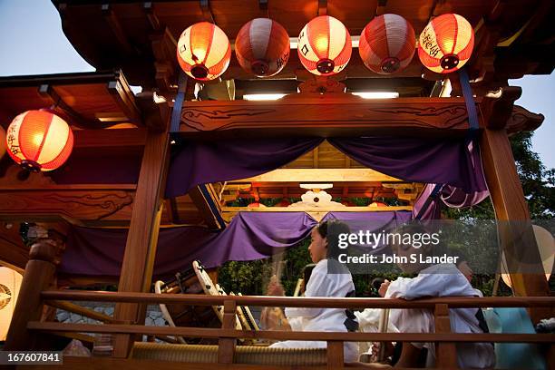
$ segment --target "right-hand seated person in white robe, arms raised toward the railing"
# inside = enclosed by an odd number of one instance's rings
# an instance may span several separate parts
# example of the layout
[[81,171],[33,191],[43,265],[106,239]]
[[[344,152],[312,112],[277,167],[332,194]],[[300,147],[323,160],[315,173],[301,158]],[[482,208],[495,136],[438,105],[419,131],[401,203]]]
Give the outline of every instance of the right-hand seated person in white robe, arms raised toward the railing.
[[[426,232],[420,226],[406,227],[402,232]],[[432,248],[424,245],[413,248],[412,245],[392,246],[397,256],[411,254],[430,256]],[[420,258],[419,258],[420,260]],[[420,263],[399,263],[405,273],[418,273],[414,278],[398,277],[393,282],[385,280],[380,294],[386,298],[416,299],[421,297],[480,297],[480,291],[470,285],[469,275],[472,271],[463,272],[453,264],[424,265]],[[466,275],[466,276],[465,276]],[[483,333],[484,329],[479,308],[452,308],[449,316],[453,333]],[[434,317],[429,309],[392,309],[390,321],[399,331],[404,333],[433,333]],[[485,329],[487,330],[487,329]],[[395,364],[401,367],[412,367],[419,364],[419,359],[427,350],[426,365],[435,362],[435,346],[433,343],[406,343],[400,358]],[[495,355],[491,343],[458,343],[456,345],[457,361],[461,368],[484,368],[495,365]]]

